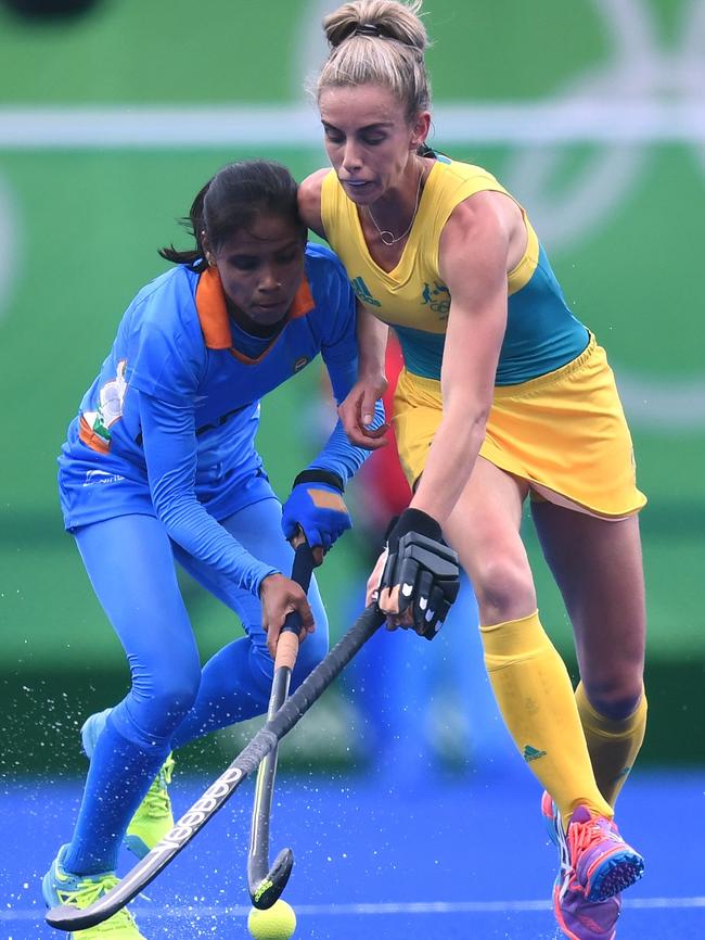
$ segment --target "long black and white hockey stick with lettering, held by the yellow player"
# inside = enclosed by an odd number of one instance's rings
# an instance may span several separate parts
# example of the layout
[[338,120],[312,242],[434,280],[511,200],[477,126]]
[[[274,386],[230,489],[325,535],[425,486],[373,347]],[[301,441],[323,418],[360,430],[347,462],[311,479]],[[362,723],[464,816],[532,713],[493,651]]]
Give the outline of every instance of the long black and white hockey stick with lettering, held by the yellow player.
[[228,770],[208,787],[201,799],[178,821],[175,827],[127,875],[88,907],[69,905],[52,907],[47,923],[59,930],[85,930],[101,924],[129,903],[156,878],[169,862],[193,839],[208,820],[230,799],[240,784],[257,770],[267,754],[306,714],[339,675],[359,649],[380,628],[385,614],[370,605],[345,636],[304,679],[273,719],[267,721]]

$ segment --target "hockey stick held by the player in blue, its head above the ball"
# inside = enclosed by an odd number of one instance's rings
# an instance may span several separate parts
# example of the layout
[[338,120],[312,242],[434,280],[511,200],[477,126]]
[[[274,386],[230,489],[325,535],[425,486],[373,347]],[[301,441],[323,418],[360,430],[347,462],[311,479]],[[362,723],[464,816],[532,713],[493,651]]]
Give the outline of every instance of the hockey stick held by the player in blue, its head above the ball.
[[[313,555],[309,544],[300,536],[296,546],[292,581],[308,592],[308,585],[313,571]],[[298,655],[298,631],[300,618],[296,612],[290,613],[282,627],[282,636],[277,646],[274,660],[274,677],[269,697],[267,719],[271,721],[283,706],[289,695],[292,670]],[[284,638],[284,631],[291,637]],[[274,747],[259,765],[255,785],[255,802],[252,811],[252,828],[249,833],[249,852],[247,854],[247,889],[255,907],[265,911],[279,899],[292,874],[294,853],[291,849],[282,849],[274,864],[269,865],[269,817],[272,809],[274,778],[277,776],[277,757],[279,748]]]

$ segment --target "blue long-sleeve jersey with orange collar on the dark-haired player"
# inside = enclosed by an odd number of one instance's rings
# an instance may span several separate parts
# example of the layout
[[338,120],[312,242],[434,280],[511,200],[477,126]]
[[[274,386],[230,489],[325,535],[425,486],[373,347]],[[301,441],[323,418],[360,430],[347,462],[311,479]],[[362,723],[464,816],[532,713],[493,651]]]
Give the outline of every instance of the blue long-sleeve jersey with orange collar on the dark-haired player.
[[[138,293],[59,458],[67,529],[157,516],[191,555],[257,593],[272,569],[217,520],[271,495],[255,449],[259,401],[319,353],[338,403],[357,377],[345,270],[329,249],[309,244],[305,275],[282,330],[262,350],[239,335],[215,269],[179,266]],[[338,425],[311,466],[347,482],[366,457]]]

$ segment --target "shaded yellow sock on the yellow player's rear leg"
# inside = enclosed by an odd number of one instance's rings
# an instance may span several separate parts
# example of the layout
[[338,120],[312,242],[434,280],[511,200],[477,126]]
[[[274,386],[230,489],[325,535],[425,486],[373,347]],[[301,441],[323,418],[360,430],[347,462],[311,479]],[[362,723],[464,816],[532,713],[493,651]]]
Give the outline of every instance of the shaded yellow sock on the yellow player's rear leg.
[[626,719],[613,721],[597,712],[585,694],[582,683],[575,690],[578,714],[592,761],[600,792],[614,808],[644,739],[646,696]]

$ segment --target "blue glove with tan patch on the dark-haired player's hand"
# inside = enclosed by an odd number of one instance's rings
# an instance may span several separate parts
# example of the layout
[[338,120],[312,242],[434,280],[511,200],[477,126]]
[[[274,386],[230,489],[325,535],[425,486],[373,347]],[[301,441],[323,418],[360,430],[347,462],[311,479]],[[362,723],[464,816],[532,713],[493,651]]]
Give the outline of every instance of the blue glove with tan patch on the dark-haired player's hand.
[[294,480],[282,513],[284,537],[291,541],[299,528],[311,548],[320,545],[323,551],[352,528],[343,500],[343,481],[337,473],[304,470]]

